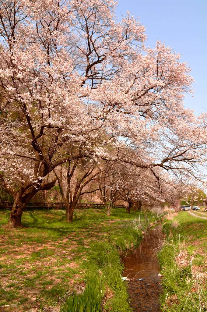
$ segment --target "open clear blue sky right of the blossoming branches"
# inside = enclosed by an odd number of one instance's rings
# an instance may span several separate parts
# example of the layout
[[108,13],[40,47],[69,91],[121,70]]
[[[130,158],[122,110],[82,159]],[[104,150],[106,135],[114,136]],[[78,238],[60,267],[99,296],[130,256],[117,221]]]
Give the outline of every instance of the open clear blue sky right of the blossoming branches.
[[146,27],[146,46],[154,47],[156,40],[165,42],[181,53],[195,79],[194,97],[185,98],[185,106],[207,112],[207,0],[120,0],[117,15],[127,10]]

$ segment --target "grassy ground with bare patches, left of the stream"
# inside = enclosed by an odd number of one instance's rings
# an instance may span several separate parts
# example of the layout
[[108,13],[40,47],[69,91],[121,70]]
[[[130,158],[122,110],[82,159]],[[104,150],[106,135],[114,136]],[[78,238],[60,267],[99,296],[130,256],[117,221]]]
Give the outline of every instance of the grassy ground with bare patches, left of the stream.
[[[8,214],[0,211],[0,306],[17,303],[12,311],[39,311],[58,304],[89,271],[100,271],[113,295],[106,307],[129,310],[118,249],[139,243],[141,230],[132,224],[139,213],[118,208],[107,217],[103,210],[79,210],[69,224],[65,211],[24,212],[24,228],[12,230],[7,227]],[[150,214],[147,218],[154,220]]]

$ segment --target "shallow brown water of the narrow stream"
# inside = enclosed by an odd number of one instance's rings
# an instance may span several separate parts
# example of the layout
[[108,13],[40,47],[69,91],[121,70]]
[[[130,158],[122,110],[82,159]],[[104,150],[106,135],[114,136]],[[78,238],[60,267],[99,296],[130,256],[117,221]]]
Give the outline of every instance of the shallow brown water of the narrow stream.
[[156,258],[159,251],[161,228],[150,230],[133,252],[123,257],[127,276],[130,306],[134,312],[159,312],[159,295],[162,291],[160,267]]

